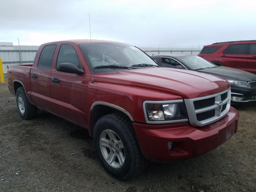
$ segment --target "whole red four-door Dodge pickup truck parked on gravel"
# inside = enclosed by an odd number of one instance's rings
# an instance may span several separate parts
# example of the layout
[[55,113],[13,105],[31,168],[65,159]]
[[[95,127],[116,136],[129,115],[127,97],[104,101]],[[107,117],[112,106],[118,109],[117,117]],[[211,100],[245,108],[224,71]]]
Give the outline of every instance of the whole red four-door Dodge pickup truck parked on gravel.
[[8,87],[22,119],[46,110],[86,129],[98,158],[127,180],[153,162],[213,150],[236,133],[230,84],[160,68],[135,46],[99,40],[43,44],[33,65],[12,66]]

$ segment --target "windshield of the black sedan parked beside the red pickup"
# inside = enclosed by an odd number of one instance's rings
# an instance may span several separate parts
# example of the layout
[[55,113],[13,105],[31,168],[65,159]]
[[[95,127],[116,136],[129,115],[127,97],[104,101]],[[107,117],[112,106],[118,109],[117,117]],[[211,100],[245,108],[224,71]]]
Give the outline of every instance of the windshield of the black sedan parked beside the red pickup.
[[198,56],[179,57],[178,59],[183,64],[191,68],[192,70],[208,69],[208,68],[216,67],[216,65]]

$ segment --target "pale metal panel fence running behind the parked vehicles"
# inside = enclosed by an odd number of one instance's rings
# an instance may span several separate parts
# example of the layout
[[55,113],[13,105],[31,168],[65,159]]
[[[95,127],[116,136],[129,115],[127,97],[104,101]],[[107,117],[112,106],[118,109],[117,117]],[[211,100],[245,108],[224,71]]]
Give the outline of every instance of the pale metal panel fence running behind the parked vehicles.
[[[13,50],[0,50],[4,74],[6,75],[6,66],[19,64],[33,64],[36,51],[39,46],[13,46]],[[149,48],[141,47],[141,50],[148,55],[158,54],[199,54],[201,49],[184,49],[184,48]]]

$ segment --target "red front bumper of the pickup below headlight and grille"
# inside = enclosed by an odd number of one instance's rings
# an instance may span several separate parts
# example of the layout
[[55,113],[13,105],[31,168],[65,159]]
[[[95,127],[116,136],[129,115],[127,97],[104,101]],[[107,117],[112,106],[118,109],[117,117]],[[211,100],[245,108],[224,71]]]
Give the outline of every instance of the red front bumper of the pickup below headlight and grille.
[[[170,162],[209,152],[236,133],[238,112],[230,107],[224,118],[203,127],[188,123],[150,125],[133,123],[140,149],[153,162]],[[171,150],[168,142],[173,142]]]

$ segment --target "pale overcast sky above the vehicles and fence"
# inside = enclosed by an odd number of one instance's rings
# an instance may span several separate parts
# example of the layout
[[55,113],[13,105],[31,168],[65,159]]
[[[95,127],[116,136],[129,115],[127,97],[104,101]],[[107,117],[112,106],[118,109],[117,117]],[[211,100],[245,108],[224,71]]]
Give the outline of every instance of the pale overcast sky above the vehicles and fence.
[[256,39],[255,0],[1,0],[0,42],[40,45],[66,39],[200,48]]

